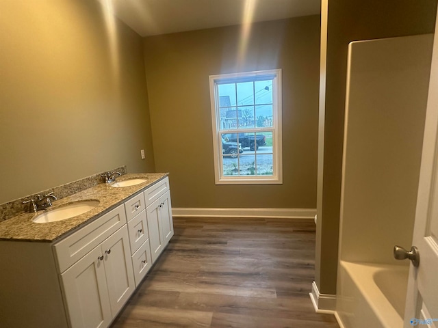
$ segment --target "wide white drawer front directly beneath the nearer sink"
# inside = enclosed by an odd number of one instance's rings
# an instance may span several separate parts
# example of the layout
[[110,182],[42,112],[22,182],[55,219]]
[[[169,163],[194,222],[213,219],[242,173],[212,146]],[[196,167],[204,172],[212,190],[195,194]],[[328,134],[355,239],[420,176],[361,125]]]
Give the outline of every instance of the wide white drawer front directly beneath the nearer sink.
[[120,205],[53,245],[58,271],[65,271],[125,223],[125,208]]

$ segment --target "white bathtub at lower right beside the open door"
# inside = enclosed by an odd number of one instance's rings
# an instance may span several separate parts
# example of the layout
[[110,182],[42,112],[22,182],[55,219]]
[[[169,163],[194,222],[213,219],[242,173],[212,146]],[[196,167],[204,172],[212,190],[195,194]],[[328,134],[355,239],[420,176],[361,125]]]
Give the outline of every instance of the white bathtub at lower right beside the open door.
[[340,262],[336,314],[345,328],[403,327],[409,267]]

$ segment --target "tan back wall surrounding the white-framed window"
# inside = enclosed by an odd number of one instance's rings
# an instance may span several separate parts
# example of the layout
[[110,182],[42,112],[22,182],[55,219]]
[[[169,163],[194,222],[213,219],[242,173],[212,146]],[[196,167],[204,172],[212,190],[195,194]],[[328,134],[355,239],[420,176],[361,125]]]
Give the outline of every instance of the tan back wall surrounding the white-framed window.
[[[320,16],[144,39],[155,165],[170,172],[172,206],[315,208]],[[281,68],[283,184],[215,185],[209,75]]]

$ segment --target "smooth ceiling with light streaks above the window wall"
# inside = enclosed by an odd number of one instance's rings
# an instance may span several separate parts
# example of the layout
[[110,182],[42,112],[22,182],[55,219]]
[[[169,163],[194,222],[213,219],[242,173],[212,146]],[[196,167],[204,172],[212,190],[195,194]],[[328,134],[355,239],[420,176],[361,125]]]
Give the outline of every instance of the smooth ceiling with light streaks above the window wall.
[[320,0],[99,1],[140,36],[320,14]]

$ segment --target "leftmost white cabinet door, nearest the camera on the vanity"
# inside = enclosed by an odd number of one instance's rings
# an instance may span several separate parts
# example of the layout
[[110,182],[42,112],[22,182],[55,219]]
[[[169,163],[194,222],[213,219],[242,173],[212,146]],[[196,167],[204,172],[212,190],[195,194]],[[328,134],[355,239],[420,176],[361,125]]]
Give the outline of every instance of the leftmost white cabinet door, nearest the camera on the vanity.
[[103,328],[112,320],[105,267],[98,246],[61,275],[71,328]]

